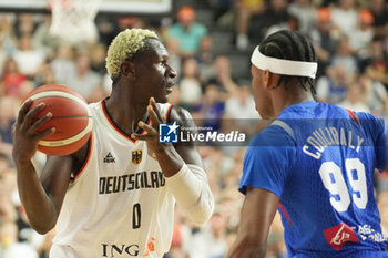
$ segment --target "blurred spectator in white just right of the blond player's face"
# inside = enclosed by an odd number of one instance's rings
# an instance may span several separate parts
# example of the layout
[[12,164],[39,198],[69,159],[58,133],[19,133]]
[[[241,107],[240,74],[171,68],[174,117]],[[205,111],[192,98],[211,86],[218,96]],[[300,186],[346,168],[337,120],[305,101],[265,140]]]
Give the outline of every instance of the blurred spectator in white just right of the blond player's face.
[[198,63],[195,59],[186,59],[183,63],[182,78],[178,82],[181,104],[188,110],[200,103],[202,97],[201,82],[198,78]]

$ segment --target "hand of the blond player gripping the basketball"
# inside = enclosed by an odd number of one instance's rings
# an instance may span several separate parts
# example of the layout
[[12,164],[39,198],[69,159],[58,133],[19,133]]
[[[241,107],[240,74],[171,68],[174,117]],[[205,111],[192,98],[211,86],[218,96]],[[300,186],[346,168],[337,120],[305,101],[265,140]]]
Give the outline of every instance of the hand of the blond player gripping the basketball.
[[44,109],[44,103],[40,103],[30,110],[32,101],[28,100],[19,111],[17,122],[12,126],[12,157],[18,163],[30,162],[38,149],[38,142],[47,135],[55,132],[54,127],[39,132],[40,126],[52,117],[52,113],[35,120],[35,115]]

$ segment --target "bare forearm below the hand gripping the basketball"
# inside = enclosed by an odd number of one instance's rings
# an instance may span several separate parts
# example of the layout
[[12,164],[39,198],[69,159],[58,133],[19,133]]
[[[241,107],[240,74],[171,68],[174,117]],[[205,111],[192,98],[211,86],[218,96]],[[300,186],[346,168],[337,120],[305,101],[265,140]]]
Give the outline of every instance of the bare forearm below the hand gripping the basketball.
[[40,234],[45,234],[57,221],[54,205],[45,194],[32,163],[16,163],[16,166],[20,199],[31,227]]

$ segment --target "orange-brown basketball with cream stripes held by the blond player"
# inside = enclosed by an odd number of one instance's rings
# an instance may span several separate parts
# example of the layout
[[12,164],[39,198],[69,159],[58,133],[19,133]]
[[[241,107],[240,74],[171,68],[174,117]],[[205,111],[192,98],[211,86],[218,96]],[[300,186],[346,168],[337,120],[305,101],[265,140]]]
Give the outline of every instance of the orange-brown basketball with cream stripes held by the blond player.
[[38,149],[53,156],[65,156],[80,149],[89,140],[92,132],[92,117],[89,114],[85,100],[74,90],[58,84],[39,86],[25,100],[32,100],[33,109],[44,103],[44,109],[34,117],[52,113],[49,122],[39,132],[55,127],[55,132],[43,137],[38,143]]

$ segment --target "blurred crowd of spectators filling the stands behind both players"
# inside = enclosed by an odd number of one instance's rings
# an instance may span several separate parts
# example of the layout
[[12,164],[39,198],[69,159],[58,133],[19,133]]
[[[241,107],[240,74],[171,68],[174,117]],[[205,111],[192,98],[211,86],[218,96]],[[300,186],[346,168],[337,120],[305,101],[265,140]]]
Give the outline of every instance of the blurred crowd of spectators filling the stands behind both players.
[[[313,41],[318,56],[317,100],[388,121],[386,0],[207,0],[207,4],[213,10],[212,29],[234,28],[229,51],[246,55],[247,62],[248,53],[266,35],[279,29],[300,31]],[[74,43],[50,34],[50,14],[0,13],[0,257],[48,257],[55,234],[41,236],[32,230],[18,197],[11,126],[20,104],[31,90],[50,83],[74,89],[88,102],[108,96],[106,49],[125,28],[149,28],[160,34],[178,74],[172,104],[187,109],[198,121],[211,121],[217,130],[237,126],[249,135],[259,131],[259,125],[247,123],[259,120],[249,79],[233,76],[227,54],[217,50],[211,28],[196,20],[196,14],[184,6],[159,23],[146,18],[99,17],[99,40]],[[245,147],[200,146],[216,199],[215,213],[203,228],[195,228],[177,208],[166,257],[224,257],[238,227],[243,196],[237,187]],[[37,154],[38,168],[44,158]],[[375,185],[387,237],[388,174],[376,173]],[[285,255],[277,214],[267,258]]]

